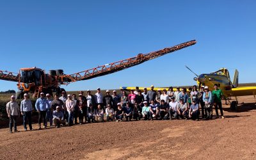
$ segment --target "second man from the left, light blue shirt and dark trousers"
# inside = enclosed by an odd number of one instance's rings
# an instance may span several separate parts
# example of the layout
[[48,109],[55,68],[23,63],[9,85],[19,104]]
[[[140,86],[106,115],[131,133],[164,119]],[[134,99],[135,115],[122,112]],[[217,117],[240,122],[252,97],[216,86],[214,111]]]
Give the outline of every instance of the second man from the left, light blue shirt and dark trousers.
[[31,120],[31,113],[33,110],[33,106],[31,103],[31,100],[28,99],[28,93],[24,94],[24,100],[20,102],[20,112],[23,116],[23,125],[24,125],[24,131],[27,131],[27,119],[28,119],[28,125],[29,129],[32,129],[32,120]]

